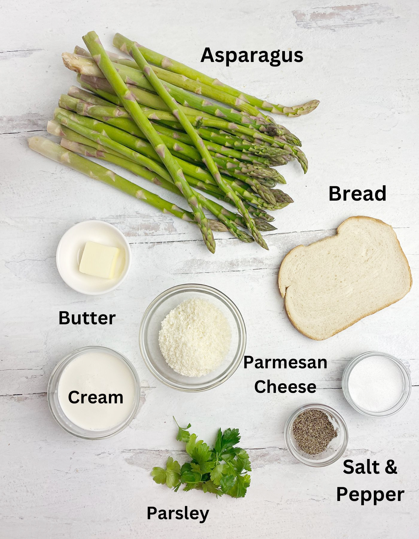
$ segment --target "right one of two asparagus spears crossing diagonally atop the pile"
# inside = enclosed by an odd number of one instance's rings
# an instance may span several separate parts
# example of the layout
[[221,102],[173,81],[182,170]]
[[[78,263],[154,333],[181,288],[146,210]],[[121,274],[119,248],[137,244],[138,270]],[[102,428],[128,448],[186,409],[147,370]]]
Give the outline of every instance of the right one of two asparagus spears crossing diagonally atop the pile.
[[[208,167],[209,172],[211,172],[212,177],[215,179],[215,182],[217,185],[221,188],[222,191],[225,192],[228,198],[231,198],[234,204],[236,205],[236,208],[239,210],[241,215],[246,221],[247,227],[252,234],[255,241],[261,245],[264,249],[268,249],[268,246],[266,244],[266,241],[261,236],[261,233],[257,230],[256,225],[252,217],[250,217],[249,212],[247,211],[246,207],[243,205],[241,199],[235,194],[232,187],[221,177],[220,172],[218,171],[217,165],[214,163],[212,156],[209,154],[208,149],[205,147],[204,142],[202,141],[201,137],[198,135],[198,133],[193,128],[191,122],[187,119],[187,116],[179,109],[177,102],[174,100],[173,96],[169,94],[166,90],[166,86],[163,85],[162,81],[160,81],[157,77],[157,75],[153,72],[149,64],[146,63],[144,57],[142,56],[141,52],[137,49],[134,42],[131,42],[128,39],[125,39],[125,47],[127,51],[132,55],[136,63],[138,64],[138,67],[142,70],[142,72],[145,74],[145,76],[148,78],[148,80],[151,82],[152,87],[155,89],[155,91],[158,93],[160,98],[163,99],[163,101],[166,103],[168,107],[170,107],[173,116],[177,118],[177,120],[181,123],[182,127],[185,129],[186,133],[191,137],[191,140],[194,143],[195,148],[199,151],[202,161],[206,164]],[[260,192],[258,191],[258,194]],[[269,194],[269,197],[267,197],[266,194],[264,194],[264,197],[266,198],[269,203],[272,203],[273,197]]]

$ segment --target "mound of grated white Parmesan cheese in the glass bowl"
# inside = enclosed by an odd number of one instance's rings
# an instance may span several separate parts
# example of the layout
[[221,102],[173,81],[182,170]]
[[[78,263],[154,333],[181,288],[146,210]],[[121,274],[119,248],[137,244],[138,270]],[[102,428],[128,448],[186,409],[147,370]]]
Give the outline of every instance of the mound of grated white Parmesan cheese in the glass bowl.
[[162,322],[158,343],[166,363],[184,376],[211,372],[225,360],[231,328],[224,314],[200,298],[185,300]]

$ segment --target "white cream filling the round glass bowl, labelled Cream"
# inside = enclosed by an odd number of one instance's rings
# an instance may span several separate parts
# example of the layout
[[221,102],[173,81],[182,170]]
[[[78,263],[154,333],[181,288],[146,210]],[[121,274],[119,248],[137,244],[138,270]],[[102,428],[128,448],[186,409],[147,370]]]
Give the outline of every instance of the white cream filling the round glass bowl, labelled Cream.
[[75,425],[89,431],[113,429],[132,411],[135,378],[120,358],[87,350],[62,371],[57,393],[62,411]]

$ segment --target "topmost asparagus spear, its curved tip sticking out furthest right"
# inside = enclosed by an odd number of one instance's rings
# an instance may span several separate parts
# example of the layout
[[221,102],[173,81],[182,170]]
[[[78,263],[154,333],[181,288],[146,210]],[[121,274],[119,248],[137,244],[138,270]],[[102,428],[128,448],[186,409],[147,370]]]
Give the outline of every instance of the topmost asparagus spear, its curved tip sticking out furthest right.
[[[118,48],[119,48],[118,44],[120,43],[120,40],[121,40],[120,34],[115,34],[114,45]],[[314,110],[319,104],[319,101],[317,99],[314,99],[312,101],[308,101],[307,103],[303,103],[303,105],[294,105],[292,107],[284,107],[283,105],[273,105],[272,103],[269,103],[268,101],[256,98],[254,95],[249,95],[244,92],[240,92],[238,89],[232,88],[231,86],[227,86],[226,84],[223,84],[222,82],[220,82],[218,79],[213,79],[212,77],[208,77],[208,75],[205,75],[204,73],[200,73],[199,71],[194,70],[191,67],[186,66],[185,64],[181,64],[180,62],[177,62],[176,60],[172,60],[171,58],[168,58],[167,56],[163,56],[163,54],[159,54],[158,52],[152,51],[150,49],[146,49],[142,45],[137,45],[137,46],[139,50],[142,52],[144,58],[147,61],[151,62],[151,64],[155,64],[157,66],[163,67],[165,70],[172,71],[173,73],[185,75],[185,77],[188,77],[190,79],[199,80],[201,82],[204,82],[207,85],[220,88],[223,92],[226,92],[242,100],[247,100],[251,105],[254,105],[255,107],[259,107],[262,110],[268,110],[271,113],[286,114],[287,116],[300,116],[302,114],[308,114],[309,112]]]

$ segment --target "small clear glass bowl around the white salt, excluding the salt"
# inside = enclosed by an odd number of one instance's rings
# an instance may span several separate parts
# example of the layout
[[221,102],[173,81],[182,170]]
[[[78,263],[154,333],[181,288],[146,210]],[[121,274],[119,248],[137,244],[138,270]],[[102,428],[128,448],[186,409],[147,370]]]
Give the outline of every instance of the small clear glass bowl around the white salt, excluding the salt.
[[[403,390],[402,390],[400,399],[396,402],[394,406],[392,406],[388,410],[383,410],[382,412],[372,412],[369,410],[365,410],[364,408],[361,408],[360,406],[358,406],[357,403],[354,402],[354,400],[351,397],[351,393],[349,392],[349,378],[351,376],[352,369],[360,361],[365,360],[366,357],[371,357],[371,356],[382,356],[382,357],[386,357],[388,360],[393,361],[393,363],[395,363],[397,367],[399,367],[401,375],[403,377]],[[398,360],[397,357],[394,357],[390,354],[386,354],[384,352],[366,352],[365,354],[361,354],[360,356],[355,357],[352,361],[350,361],[346,365],[345,370],[342,375],[342,390],[344,392],[346,400],[353,407],[353,409],[357,410],[357,412],[359,413],[364,414],[364,416],[372,416],[372,417],[392,416],[394,413],[401,410],[402,407],[409,400],[410,391],[411,391],[410,372],[407,370],[406,365],[404,365],[400,360]]]

